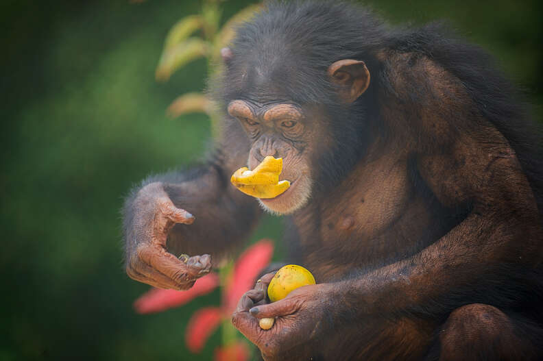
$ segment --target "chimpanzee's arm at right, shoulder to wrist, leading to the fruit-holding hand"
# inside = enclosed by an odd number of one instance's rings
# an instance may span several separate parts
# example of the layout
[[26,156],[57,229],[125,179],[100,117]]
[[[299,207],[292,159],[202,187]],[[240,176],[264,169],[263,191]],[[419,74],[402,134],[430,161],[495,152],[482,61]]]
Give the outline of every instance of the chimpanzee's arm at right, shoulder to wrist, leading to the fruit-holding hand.
[[[408,119],[402,121],[415,132],[402,132],[413,137],[418,171],[437,199],[448,207],[468,203],[472,210],[415,256],[333,289],[350,310],[365,314],[435,315],[473,302],[510,306],[533,288],[529,279],[543,260],[543,226],[533,191],[514,150],[478,115],[457,79],[431,62],[419,66],[409,69],[412,82],[396,84],[396,94],[410,91],[410,83],[424,92],[413,95],[418,103],[403,103],[424,109],[410,114],[404,105]],[[426,83],[417,84],[415,75],[422,73]]]

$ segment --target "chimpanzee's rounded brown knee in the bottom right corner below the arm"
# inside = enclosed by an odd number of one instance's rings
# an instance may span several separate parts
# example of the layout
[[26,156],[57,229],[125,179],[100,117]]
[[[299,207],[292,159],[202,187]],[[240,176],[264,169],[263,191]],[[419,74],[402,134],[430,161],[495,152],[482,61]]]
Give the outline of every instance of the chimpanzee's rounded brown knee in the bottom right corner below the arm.
[[439,360],[535,360],[535,348],[516,331],[514,320],[498,308],[462,306],[439,330]]

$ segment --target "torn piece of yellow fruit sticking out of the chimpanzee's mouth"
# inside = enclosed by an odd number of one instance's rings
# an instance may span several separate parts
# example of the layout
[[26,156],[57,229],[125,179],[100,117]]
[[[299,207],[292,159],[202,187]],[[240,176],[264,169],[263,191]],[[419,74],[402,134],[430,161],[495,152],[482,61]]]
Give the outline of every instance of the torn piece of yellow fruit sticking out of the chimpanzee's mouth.
[[282,171],[282,158],[267,156],[250,171],[246,166],[232,174],[230,182],[246,195],[256,198],[274,198],[290,187],[287,180],[279,181]]

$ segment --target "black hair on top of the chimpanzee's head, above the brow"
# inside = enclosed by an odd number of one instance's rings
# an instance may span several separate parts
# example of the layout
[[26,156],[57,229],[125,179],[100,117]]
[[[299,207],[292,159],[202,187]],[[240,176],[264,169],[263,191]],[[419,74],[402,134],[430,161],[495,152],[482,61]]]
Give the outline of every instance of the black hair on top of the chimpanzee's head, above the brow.
[[384,31],[369,13],[340,1],[269,2],[237,28],[221,96],[334,104],[328,67],[341,59],[365,61]]

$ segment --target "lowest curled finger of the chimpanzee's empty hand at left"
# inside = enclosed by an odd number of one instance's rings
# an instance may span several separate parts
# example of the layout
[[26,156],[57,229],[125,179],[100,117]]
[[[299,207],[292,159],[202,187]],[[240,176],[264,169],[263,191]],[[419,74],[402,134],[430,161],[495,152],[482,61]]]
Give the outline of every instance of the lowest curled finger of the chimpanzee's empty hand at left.
[[169,277],[178,286],[186,288],[186,284],[206,275],[210,271],[210,262],[194,262],[185,264],[173,254],[158,245],[142,245],[137,250],[138,258]]

